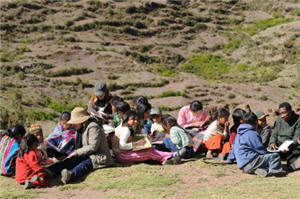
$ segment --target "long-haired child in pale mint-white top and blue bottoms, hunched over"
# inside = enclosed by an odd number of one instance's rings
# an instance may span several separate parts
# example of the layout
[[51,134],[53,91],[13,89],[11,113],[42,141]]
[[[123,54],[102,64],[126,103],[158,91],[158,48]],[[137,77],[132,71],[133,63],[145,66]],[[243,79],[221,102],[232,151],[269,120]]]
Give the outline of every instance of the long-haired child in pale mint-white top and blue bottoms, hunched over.
[[172,152],[178,152],[184,158],[194,157],[192,138],[177,124],[177,120],[167,114],[164,115],[162,124],[168,132],[164,139],[164,146]]

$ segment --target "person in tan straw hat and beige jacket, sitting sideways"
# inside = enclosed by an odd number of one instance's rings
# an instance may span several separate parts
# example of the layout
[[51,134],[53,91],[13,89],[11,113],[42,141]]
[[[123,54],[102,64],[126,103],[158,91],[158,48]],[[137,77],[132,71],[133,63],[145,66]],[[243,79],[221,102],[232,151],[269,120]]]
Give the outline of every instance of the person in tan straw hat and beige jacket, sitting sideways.
[[74,108],[68,123],[77,130],[75,151],[64,161],[48,168],[54,176],[60,173],[64,184],[93,169],[113,164],[103,128],[93,121],[84,108]]

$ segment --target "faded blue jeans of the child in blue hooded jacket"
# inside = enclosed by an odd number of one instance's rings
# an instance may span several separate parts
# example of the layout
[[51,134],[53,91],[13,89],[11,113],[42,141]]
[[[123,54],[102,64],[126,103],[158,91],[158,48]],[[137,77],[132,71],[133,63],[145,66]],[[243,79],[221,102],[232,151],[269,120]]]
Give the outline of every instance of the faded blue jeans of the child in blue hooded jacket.
[[256,169],[264,169],[268,173],[282,170],[280,155],[278,153],[267,153],[259,155],[250,161],[244,168],[245,173],[254,173]]

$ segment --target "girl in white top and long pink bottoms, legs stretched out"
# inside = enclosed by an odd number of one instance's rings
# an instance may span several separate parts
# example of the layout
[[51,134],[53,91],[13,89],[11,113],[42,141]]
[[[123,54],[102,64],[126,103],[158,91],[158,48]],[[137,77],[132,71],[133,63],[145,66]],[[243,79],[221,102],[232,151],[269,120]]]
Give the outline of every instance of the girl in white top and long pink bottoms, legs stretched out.
[[[152,148],[151,145],[145,146],[147,145],[145,139],[133,141],[139,124],[138,119],[136,112],[127,111],[123,115],[122,125],[116,128],[112,147],[116,155],[116,160],[123,163],[143,162],[147,160],[154,160],[160,164],[180,163],[180,157],[173,157],[172,153],[158,151]],[[142,148],[141,146],[145,146],[145,149],[135,150],[136,148]]]

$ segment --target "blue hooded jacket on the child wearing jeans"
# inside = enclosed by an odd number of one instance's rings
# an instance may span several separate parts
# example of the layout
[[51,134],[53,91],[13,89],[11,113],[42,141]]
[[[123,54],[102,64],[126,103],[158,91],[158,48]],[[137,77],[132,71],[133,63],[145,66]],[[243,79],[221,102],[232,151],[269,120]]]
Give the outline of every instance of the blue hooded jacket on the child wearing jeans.
[[240,169],[258,155],[267,153],[266,147],[261,142],[260,135],[249,124],[241,124],[239,126],[232,150],[233,152],[229,153],[227,162],[231,163],[236,159]]

